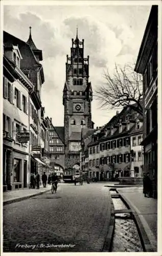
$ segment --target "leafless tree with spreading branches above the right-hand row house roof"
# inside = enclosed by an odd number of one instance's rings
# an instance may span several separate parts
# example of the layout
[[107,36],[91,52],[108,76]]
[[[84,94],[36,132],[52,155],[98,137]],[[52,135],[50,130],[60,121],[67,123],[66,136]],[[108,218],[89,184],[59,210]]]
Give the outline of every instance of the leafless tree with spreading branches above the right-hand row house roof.
[[126,65],[124,68],[115,64],[113,75],[104,73],[106,83],[96,90],[96,98],[102,109],[119,109],[130,106],[139,114],[143,114],[143,85],[140,74]]

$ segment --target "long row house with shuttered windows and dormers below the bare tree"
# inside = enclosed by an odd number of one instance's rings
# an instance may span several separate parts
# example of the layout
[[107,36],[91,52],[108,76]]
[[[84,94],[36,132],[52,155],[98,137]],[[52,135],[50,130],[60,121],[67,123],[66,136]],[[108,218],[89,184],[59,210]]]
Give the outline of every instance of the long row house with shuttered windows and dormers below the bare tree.
[[[109,180],[115,176],[142,176],[142,146],[139,144],[142,126],[142,118],[137,117],[133,111],[127,112],[124,109],[92,134],[91,142],[87,145],[89,178]],[[137,134],[137,148],[134,134]]]

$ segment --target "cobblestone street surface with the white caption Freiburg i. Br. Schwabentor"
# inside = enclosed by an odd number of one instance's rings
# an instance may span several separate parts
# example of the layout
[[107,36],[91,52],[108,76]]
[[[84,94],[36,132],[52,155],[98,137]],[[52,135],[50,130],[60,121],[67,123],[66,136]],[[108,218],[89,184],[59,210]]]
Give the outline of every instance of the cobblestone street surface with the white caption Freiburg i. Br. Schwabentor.
[[101,251],[109,219],[104,184],[59,184],[56,194],[4,206],[4,252]]

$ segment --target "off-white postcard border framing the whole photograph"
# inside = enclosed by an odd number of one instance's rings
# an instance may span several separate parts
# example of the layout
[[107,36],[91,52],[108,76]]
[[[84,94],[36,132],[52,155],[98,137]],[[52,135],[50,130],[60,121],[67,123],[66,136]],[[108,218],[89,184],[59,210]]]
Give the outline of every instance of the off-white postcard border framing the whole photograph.
[[[149,6],[149,5],[158,5],[158,12],[159,12],[159,16],[158,16],[158,128],[162,127],[162,123],[161,123],[161,1],[55,1],[55,0],[51,0],[51,1],[40,1],[40,0],[36,0],[36,1],[28,1],[28,0],[21,0],[21,1],[8,1],[8,0],[4,0],[1,1],[1,53],[3,52],[3,6],[16,6],[16,5],[24,5],[24,6],[52,6],[52,5],[59,5],[59,6],[108,6],[108,5],[113,5],[113,6],[133,6],[133,5],[144,5],[144,6]],[[136,17],[137,18],[137,17]],[[0,89],[0,95],[1,95],[1,99],[2,99],[2,92],[3,92],[3,87],[2,87],[2,77],[3,77],[3,54],[1,54],[1,89]],[[1,110],[3,110],[3,100],[0,100],[0,104],[1,104]],[[1,124],[3,123],[3,118],[2,115],[3,111],[0,112],[0,117],[1,117]],[[3,157],[3,136],[2,136],[2,131],[3,131],[3,127],[1,125],[1,135],[0,135],[0,139],[1,139],[1,159]],[[161,256],[162,255],[162,246],[161,246],[161,241],[162,241],[162,210],[161,210],[161,198],[162,198],[162,194],[161,194],[161,179],[162,179],[162,175],[161,175],[161,169],[162,169],[162,162],[161,162],[161,145],[162,145],[162,133],[161,130],[158,129],[158,214],[157,214],[157,219],[158,219],[158,252],[130,252],[130,253],[125,253],[125,252],[88,252],[88,253],[82,253],[82,252],[76,252],[76,253],[71,253],[71,252],[66,252],[66,253],[43,253],[41,252],[41,254],[43,255],[54,255],[54,254],[59,254],[59,255],[72,255],[72,254],[78,254],[78,255],[86,255],[86,254],[91,254],[91,255],[108,255],[108,254],[114,254],[114,255],[136,255],[138,254],[147,254],[147,255],[158,255]],[[3,166],[2,166],[2,161],[0,161],[0,166],[1,166],[1,182],[3,183],[3,179],[2,179],[2,170],[3,170]],[[1,183],[1,184],[2,184]],[[3,186],[1,185],[1,205],[3,205]],[[1,207],[1,236],[3,237],[3,207]],[[2,238],[1,237],[1,238]],[[3,241],[1,239],[1,253],[2,255],[29,255],[29,254],[33,254],[33,255],[38,255],[39,253],[30,253],[30,252],[25,252],[25,253],[17,253],[17,252],[12,252],[12,253],[3,253]]]

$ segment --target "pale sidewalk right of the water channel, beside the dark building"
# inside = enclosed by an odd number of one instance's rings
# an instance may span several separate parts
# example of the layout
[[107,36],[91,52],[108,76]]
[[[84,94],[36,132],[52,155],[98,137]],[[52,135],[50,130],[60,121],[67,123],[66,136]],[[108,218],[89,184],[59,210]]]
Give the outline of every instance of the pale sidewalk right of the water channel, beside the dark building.
[[125,187],[117,190],[130,208],[136,211],[138,224],[142,223],[138,225],[141,233],[144,233],[144,228],[152,248],[157,251],[157,200],[144,197],[143,187]]

